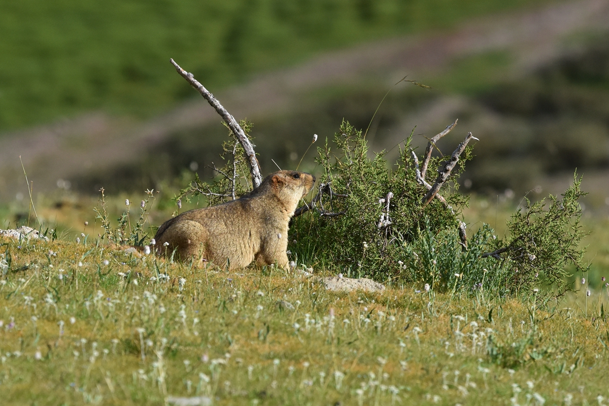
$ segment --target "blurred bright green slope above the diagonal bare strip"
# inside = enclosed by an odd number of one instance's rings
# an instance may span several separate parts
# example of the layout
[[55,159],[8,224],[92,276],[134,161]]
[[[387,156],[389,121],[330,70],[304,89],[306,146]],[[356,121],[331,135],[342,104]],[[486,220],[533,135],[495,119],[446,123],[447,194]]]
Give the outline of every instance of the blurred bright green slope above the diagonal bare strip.
[[375,38],[548,0],[0,0],[0,131],[102,108],[149,116],[211,89]]

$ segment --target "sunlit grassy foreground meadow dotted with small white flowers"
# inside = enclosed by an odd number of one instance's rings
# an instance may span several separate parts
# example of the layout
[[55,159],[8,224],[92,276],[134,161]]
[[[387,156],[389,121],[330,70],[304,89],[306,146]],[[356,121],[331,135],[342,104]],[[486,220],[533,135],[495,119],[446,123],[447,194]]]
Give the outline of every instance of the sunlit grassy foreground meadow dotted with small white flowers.
[[0,279],[3,404],[607,397],[609,335],[593,303],[586,318],[581,300],[565,309],[535,296],[466,299],[400,285],[329,293],[299,271],[202,270],[91,242],[0,244],[11,258]]

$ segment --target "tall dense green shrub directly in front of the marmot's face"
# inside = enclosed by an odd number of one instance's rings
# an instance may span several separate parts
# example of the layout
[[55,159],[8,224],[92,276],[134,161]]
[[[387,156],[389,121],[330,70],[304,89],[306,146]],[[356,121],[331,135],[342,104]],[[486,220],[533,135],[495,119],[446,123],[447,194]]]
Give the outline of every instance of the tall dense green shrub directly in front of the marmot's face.
[[[326,191],[322,197],[329,200],[321,208],[294,220],[290,240],[297,246],[305,246],[306,256],[321,259],[333,269],[347,269],[348,275],[367,275],[376,279],[396,276],[414,281],[414,275],[404,272],[402,263],[409,257],[404,245],[421,237],[421,230],[430,228],[433,233],[456,229],[457,212],[432,201],[424,209],[421,198],[427,189],[415,180],[415,169],[410,158],[410,138],[401,152],[401,160],[393,170],[388,169],[384,153],[368,158],[368,147],[361,131],[343,122],[334,136],[337,150],[329,142],[318,149],[317,163],[323,168],[320,185],[329,186],[334,197]],[[454,177],[463,170],[463,163],[470,158],[466,150]],[[440,159],[434,158],[429,168],[437,167]],[[454,190],[457,185],[446,184]],[[389,210],[387,210],[387,195]],[[391,195],[390,195],[391,196]],[[466,203],[458,194],[447,196],[454,208]],[[344,212],[343,215],[329,213]],[[295,252],[300,250],[295,247]]]

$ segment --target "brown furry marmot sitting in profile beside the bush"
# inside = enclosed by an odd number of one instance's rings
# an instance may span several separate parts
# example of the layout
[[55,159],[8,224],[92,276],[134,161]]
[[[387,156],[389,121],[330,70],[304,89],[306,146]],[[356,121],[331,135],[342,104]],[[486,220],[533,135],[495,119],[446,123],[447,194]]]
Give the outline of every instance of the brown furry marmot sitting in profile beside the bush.
[[[244,268],[259,265],[287,268],[287,229],[298,201],[311,191],[315,177],[281,170],[237,200],[184,212],[158,228],[157,252],[180,261],[195,259]],[[166,245],[165,243],[168,243]]]

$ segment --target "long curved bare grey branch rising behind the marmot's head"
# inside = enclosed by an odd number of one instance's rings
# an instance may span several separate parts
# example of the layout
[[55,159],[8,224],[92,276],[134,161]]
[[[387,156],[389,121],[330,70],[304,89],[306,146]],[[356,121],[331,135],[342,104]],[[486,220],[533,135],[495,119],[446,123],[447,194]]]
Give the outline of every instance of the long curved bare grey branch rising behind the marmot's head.
[[231,114],[228,113],[224,107],[222,107],[220,102],[216,99],[216,97],[214,97],[213,94],[209,93],[209,91],[201,83],[194,79],[194,76],[191,73],[180,68],[180,65],[175,63],[173,59],[171,59],[171,64],[175,66],[175,70],[178,71],[181,77],[186,79],[186,81],[190,83],[193,88],[197,89],[201,96],[203,96],[205,100],[209,102],[211,107],[216,109],[217,113],[220,114],[222,119],[224,119],[224,121],[227,123],[228,128],[233,131],[233,134],[237,137],[245,152],[245,158],[250,167],[250,175],[252,175],[253,187],[255,189],[256,187],[260,186],[262,183],[262,175],[260,174],[258,159],[256,159],[256,152],[254,151],[252,142],[250,142],[247,135],[245,135],[243,128],[241,128],[241,125],[239,125],[234,117],[231,116]]

